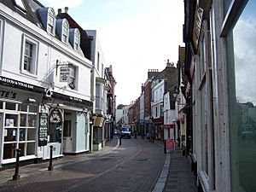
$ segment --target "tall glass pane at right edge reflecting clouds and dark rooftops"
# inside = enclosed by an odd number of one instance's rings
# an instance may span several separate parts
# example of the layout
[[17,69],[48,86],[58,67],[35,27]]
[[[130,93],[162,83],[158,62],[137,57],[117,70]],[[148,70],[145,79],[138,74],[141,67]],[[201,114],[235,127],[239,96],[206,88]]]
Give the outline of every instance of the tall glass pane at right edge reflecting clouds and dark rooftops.
[[256,189],[256,2],[249,1],[228,36],[230,160],[234,192]]

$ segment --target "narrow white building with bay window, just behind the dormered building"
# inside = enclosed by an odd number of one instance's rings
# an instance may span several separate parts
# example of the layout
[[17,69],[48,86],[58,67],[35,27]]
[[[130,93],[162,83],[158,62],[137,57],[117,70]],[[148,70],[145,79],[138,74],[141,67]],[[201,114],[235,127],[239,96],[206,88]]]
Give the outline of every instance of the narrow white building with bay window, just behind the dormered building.
[[105,145],[105,119],[107,118],[107,96],[111,85],[105,78],[105,59],[96,30],[86,30],[89,35],[91,71],[91,100],[94,101],[95,124],[93,128],[93,150],[99,150]]

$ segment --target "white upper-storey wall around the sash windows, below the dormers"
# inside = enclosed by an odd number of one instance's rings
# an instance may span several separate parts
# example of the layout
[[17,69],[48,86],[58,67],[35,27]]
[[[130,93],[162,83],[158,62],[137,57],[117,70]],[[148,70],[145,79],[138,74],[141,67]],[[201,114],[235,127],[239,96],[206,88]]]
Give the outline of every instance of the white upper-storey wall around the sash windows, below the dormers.
[[[50,87],[50,83],[54,83],[52,88],[55,92],[90,101],[91,61],[87,60],[83,54],[74,50],[71,46],[63,44],[57,38],[53,38],[38,26],[33,25],[19,14],[6,8],[2,3],[0,3],[0,10],[1,15],[7,18],[7,20],[3,19],[3,36],[5,40],[3,42],[1,75],[47,88]],[[38,43],[38,70],[36,75],[28,75],[20,70],[23,57],[22,45],[25,37],[31,38]],[[59,73],[56,75],[57,60],[71,62],[78,67],[77,89],[71,90],[67,83],[59,82]],[[58,67],[59,69],[60,67]]]

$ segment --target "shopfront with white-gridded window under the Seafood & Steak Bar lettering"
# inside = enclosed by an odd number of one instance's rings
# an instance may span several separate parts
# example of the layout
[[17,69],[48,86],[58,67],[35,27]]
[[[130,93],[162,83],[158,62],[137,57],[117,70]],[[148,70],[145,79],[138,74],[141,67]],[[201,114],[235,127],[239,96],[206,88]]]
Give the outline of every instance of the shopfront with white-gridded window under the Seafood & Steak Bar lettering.
[[[44,89],[0,77],[0,162],[15,162],[38,157],[38,114]],[[40,91],[42,91],[40,93]]]

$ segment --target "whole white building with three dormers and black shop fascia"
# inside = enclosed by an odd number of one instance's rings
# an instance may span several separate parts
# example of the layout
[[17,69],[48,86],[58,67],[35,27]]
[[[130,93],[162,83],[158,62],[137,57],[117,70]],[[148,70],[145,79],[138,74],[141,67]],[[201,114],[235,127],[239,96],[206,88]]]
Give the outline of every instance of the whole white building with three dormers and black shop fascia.
[[50,145],[54,157],[89,150],[92,65],[80,47],[86,34],[40,3],[3,3],[1,165],[15,162],[17,148],[20,160],[47,159]]

